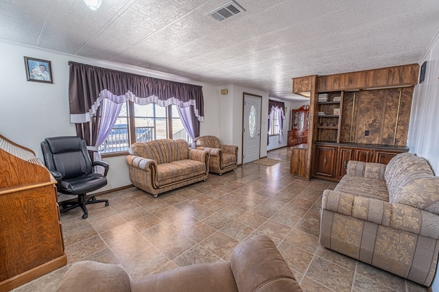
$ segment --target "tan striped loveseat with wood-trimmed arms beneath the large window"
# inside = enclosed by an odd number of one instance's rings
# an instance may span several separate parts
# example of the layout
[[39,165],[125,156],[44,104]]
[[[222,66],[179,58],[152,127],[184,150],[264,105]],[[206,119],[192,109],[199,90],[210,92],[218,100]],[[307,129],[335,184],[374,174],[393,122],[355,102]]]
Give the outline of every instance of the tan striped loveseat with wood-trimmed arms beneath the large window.
[[126,162],[134,186],[157,197],[187,184],[207,180],[209,152],[189,149],[184,140],[134,143]]

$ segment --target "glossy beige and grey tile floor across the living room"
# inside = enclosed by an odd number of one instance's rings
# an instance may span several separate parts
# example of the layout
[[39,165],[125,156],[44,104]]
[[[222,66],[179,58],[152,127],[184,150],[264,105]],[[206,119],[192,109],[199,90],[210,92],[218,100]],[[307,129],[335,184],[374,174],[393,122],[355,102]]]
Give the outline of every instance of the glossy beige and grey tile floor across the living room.
[[[239,242],[268,234],[304,291],[426,291],[391,273],[320,246],[320,195],[335,184],[289,175],[287,148],[268,152],[272,167],[248,163],[235,172],[154,199],[137,188],[107,193],[104,204],[62,214],[69,265],[121,265],[131,278],[229,260]],[[14,291],[55,291],[69,265]]]

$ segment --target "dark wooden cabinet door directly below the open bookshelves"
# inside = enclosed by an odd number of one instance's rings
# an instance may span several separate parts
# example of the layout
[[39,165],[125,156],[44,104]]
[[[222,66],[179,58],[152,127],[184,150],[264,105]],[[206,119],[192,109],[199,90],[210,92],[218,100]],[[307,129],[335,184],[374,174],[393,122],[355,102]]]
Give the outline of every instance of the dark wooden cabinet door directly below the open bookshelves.
[[322,178],[335,177],[335,158],[337,147],[318,145],[314,159],[314,175]]

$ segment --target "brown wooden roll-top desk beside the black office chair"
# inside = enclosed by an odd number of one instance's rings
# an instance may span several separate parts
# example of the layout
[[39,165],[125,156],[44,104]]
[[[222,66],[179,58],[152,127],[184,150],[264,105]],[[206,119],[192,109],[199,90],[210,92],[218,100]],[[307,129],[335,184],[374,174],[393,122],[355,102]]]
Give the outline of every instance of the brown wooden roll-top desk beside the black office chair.
[[0,135],[0,291],[67,265],[55,184],[32,150]]

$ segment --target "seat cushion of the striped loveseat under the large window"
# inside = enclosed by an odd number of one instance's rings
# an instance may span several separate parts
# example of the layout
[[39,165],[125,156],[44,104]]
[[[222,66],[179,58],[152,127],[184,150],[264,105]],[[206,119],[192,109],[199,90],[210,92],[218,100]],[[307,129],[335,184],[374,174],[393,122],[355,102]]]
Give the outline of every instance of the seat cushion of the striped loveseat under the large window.
[[185,159],[157,165],[158,186],[193,178],[206,173],[206,164],[197,160]]

